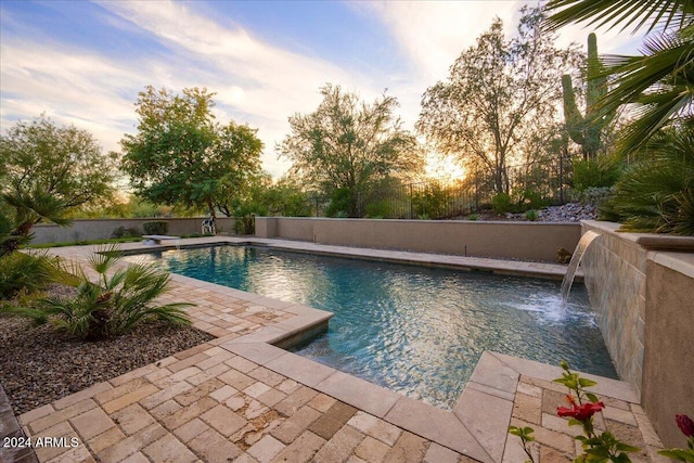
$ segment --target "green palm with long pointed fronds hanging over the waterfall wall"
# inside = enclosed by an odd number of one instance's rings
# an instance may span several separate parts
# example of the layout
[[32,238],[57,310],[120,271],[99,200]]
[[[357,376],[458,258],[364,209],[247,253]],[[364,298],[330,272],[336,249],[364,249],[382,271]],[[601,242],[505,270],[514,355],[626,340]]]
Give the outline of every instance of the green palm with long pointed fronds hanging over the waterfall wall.
[[613,88],[602,111],[631,104],[615,154],[637,159],[603,208],[621,230],[694,235],[694,2],[553,0],[547,25],[646,28],[641,56],[603,57]]

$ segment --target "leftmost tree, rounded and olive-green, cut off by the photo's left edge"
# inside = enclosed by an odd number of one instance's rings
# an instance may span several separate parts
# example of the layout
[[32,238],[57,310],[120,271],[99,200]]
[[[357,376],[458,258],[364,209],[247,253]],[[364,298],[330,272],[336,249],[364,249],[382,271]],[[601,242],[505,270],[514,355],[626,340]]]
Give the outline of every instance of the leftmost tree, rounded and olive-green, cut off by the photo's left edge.
[[59,127],[41,115],[0,137],[0,256],[15,250],[41,221],[67,222],[70,208],[108,197],[115,157],[75,126]]

